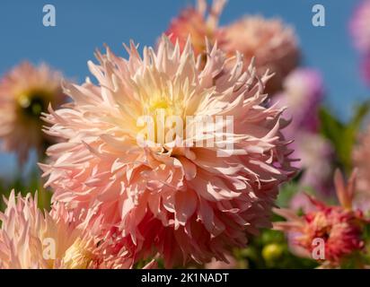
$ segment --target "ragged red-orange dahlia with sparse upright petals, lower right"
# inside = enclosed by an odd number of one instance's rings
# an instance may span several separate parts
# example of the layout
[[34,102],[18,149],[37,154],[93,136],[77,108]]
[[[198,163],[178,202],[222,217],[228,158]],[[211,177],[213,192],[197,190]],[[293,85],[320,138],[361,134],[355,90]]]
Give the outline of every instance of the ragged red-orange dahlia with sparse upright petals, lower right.
[[286,218],[286,222],[276,222],[274,228],[288,232],[293,244],[304,248],[311,256],[315,239],[324,241],[323,266],[338,267],[349,256],[363,250],[365,241],[363,231],[368,223],[363,213],[352,206],[355,195],[356,172],[346,185],[339,170],[334,176],[340,206],[328,206],[310,197],[315,210],[298,216],[289,209],[275,209],[275,213]]

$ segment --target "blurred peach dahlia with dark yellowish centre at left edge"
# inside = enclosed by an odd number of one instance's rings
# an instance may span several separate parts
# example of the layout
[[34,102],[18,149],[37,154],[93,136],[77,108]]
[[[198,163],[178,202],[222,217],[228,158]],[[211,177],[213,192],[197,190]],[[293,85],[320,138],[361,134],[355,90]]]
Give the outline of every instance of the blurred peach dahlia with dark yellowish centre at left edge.
[[0,80],[0,139],[6,152],[16,152],[22,163],[31,148],[43,152],[51,138],[42,132],[41,112],[66,99],[61,74],[47,65],[24,62]]

